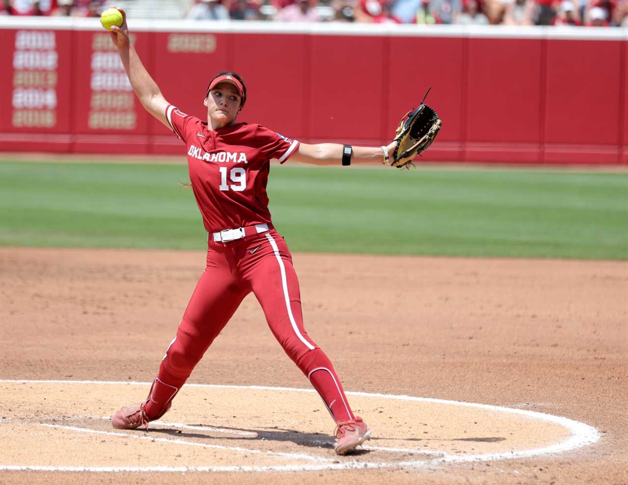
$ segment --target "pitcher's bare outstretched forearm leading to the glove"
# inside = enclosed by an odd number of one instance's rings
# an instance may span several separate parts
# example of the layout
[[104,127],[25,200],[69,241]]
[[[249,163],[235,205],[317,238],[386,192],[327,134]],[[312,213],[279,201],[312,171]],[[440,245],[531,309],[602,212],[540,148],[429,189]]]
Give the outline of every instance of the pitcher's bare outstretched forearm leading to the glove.
[[[385,146],[390,159],[396,141]],[[292,161],[311,163],[314,165],[339,165],[342,162],[342,152],[344,145],[338,143],[300,143],[296,153],[290,157]],[[384,151],[381,147],[357,147],[352,146],[353,154],[351,163],[382,163],[384,161]]]

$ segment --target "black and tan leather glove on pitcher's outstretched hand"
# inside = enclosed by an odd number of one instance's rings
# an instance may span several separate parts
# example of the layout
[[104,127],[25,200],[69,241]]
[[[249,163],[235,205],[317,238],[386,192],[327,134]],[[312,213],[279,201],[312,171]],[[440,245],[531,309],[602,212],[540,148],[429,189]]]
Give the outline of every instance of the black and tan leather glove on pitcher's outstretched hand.
[[391,165],[407,169],[414,166],[412,160],[428,149],[438,135],[441,124],[443,122],[438,118],[435,110],[421,101],[417,109],[409,111],[399,122],[394,138],[397,147],[394,149]]

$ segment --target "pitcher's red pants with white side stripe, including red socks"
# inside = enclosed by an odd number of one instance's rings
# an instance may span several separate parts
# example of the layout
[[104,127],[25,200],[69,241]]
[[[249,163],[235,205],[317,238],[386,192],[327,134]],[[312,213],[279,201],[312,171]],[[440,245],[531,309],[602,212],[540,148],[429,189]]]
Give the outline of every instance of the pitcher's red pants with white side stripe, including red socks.
[[332,363],[303,328],[301,295],[290,250],[275,230],[227,243],[210,241],[207,267],[161,362],[147,400],[149,417],[166,409],[193,368],[253,292],[284,351],[310,379],[332,417],[354,419]]

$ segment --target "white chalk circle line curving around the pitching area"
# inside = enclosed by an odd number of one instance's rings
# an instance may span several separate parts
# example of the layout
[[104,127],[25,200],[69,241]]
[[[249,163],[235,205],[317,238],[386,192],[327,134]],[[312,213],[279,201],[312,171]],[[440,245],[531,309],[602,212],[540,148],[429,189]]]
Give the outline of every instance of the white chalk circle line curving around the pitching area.
[[[2,379],[1,382],[5,383],[62,383],[62,384],[97,384],[97,385],[141,385],[149,386],[149,382],[138,381],[93,381],[93,380],[14,380],[14,379]],[[214,385],[214,384],[187,384],[188,387],[203,387],[203,388],[216,388],[216,389],[251,389],[251,390],[270,390],[270,391],[290,391],[290,392],[315,392],[313,389],[299,389],[289,387],[271,387],[271,386],[237,386],[237,385]],[[501,406],[494,406],[480,403],[468,403],[452,400],[443,400],[436,398],[424,398],[414,397],[407,395],[389,395],[381,393],[366,393],[366,392],[346,392],[347,395],[362,396],[362,397],[376,397],[382,399],[396,399],[404,401],[414,402],[429,402],[440,403],[463,407],[475,407],[481,409],[492,410],[495,412],[505,412],[524,415],[529,418],[535,418],[547,422],[553,422],[561,425],[571,432],[571,436],[561,443],[549,445],[542,448],[519,450],[501,453],[489,453],[489,454],[477,454],[477,455],[465,455],[458,456],[447,454],[443,452],[432,452],[430,450],[420,449],[387,449],[387,450],[399,450],[399,452],[435,455],[439,457],[431,461],[404,461],[394,463],[383,462],[341,462],[341,463],[322,463],[322,464],[300,464],[300,465],[279,465],[279,466],[229,466],[229,467],[59,467],[59,466],[22,466],[22,465],[0,465],[0,470],[37,470],[37,471],[90,471],[90,472],[183,472],[183,471],[320,471],[320,470],[332,470],[332,469],[355,469],[355,468],[419,468],[425,466],[437,466],[443,463],[461,463],[461,462],[474,462],[474,461],[494,461],[499,459],[512,459],[512,458],[526,458],[533,456],[540,456],[545,454],[556,454],[560,452],[566,452],[569,450],[577,449],[585,445],[593,444],[600,439],[600,434],[590,425],[584,424],[579,421],[571,420],[570,418],[555,416],[551,414],[541,413],[538,411],[531,411],[526,409],[515,409]],[[93,430],[88,430],[93,431]],[[112,433],[112,432],[103,432]],[[122,433],[124,436],[129,434]],[[153,440],[152,437],[149,439]],[[192,442],[190,442],[192,443]],[[207,445],[210,446],[210,445]],[[211,445],[215,447],[218,445]],[[369,449],[369,447],[365,447]],[[371,447],[373,450],[380,450],[381,447]],[[247,452],[253,452],[251,449],[246,449]],[[259,451],[259,450],[256,450]]]

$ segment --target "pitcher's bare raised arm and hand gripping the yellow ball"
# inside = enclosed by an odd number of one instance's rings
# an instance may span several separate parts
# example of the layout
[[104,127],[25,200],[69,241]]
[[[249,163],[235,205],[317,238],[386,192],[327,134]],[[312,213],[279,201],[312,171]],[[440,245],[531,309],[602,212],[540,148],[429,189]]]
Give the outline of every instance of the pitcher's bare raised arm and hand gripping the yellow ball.
[[131,45],[129,29],[126,26],[126,14],[124,10],[119,10],[122,13],[122,25],[120,27],[112,26],[111,40],[117,47],[122,65],[124,65],[126,75],[131,82],[131,87],[133,87],[133,91],[144,109],[165,124],[168,129],[171,129],[168,120],[166,120],[166,108],[169,103],[161,94],[157,83],[154,82],[153,78],[146,71],[137,51]]

